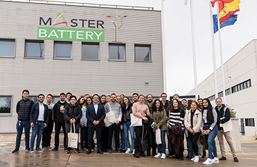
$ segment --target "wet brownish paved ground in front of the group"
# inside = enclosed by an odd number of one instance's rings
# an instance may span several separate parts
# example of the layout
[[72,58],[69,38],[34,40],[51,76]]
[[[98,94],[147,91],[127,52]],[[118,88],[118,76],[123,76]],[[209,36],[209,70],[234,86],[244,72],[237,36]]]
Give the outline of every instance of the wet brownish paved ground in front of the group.
[[[53,143],[53,142],[52,142]],[[15,147],[15,134],[0,134],[0,167],[1,166],[204,166],[205,159],[194,163],[190,159],[179,161],[178,159],[155,159],[154,157],[134,158],[132,154],[65,154],[62,148],[58,151],[25,152],[24,139],[19,153],[11,153]],[[238,153],[240,162],[233,161],[228,152],[227,160],[211,166],[257,166],[257,142],[242,143],[242,152]],[[218,157],[220,154],[218,153]]]

